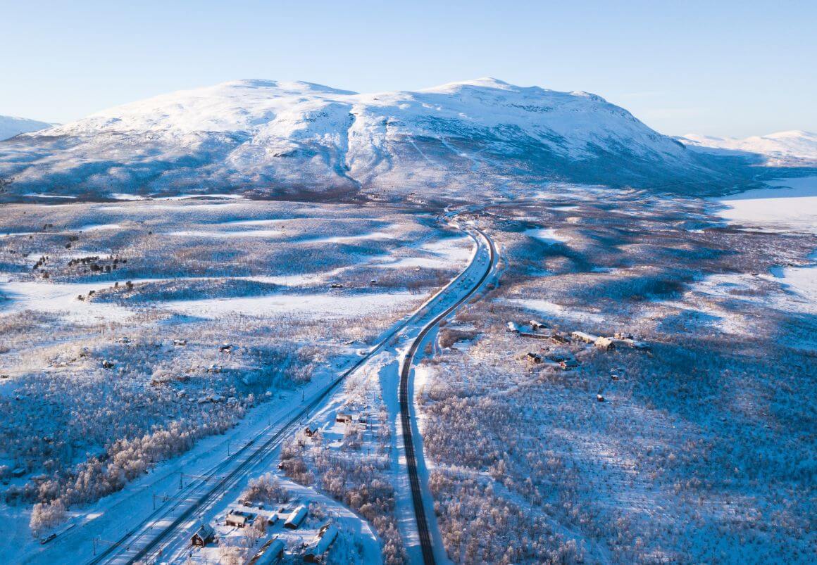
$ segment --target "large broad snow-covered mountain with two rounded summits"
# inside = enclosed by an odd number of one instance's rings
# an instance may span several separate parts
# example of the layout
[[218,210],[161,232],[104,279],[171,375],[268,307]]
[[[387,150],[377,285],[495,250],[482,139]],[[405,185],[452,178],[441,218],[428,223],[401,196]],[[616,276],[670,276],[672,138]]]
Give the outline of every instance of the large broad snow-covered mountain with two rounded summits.
[[600,96],[493,78],[379,94],[225,82],[0,144],[12,193],[475,194],[545,180],[677,186],[715,175],[706,156]]

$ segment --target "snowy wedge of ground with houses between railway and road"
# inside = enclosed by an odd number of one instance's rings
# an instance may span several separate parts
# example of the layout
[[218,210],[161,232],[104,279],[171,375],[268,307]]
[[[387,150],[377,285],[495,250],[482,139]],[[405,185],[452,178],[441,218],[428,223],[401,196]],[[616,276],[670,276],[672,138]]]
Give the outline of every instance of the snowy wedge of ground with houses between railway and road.
[[[273,468],[273,457],[277,455],[277,450],[255,465],[256,474],[275,477],[272,480],[275,480],[276,484],[283,484],[287,497],[297,496],[298,503],[310,504],[310,523],[313,526],[325,523],[326,518],[329,518],[340,527],[340,541],[330,550],[329,563],[357,563],[359,561],[375,563],[381,550],[387,563],[392,563],[390,560],[392,557],[400,558],[402,552],[400,547],[403,541],[400,537],[395,537],[397,534],[395,517],[390,517],[391,510],[388,503],[383,506],[385,502],[383,497],[387,497],[389,489],[393,488],[391,483],[403,480],[405,471],[402,466],[391,463],[397,460],[395,455],[397,444],[393,439],[397,418],[396,410],[393,408],[396,407],[386,408],[381,398],[393,398],[395,395],[393,391],[386,391],[385,387],[391,389],[396,386],[395,362],[400,354],[400,344],[408,343],[411,334],[422,327],[426,318],[431,317],[437,309],[449,305],[452,300],[456,299],[459,292],[465,291],[469,287],[467,278],[471,278],[471,275],[467,274],[458,279],[450,285],[448,294],[441,295],[438,299],[434,299],[435,301],[425,305],[413,323],[409,323],[404,332],[400,334],[399,339],[389,340],[382,353],[377,354],[347,378],[341,392],[333,395],[327,403],[310,415],[310,425],[313,425],[313,429],[316,430],[313,436],[309,437],[302,431],[294,430],[288,443],[285,443],[282,448],[283,474],[295,478],[304,486],[296,489],[292,487],[292,483],[279,480],[279,475],[282,474],[281,468]],[[391,406],[391,401],[386,404]],[[350,423],[338,422],[337,417],[340,412],[352,415],[353,421]],[[344,475],[352,468],[355,469],[352,473]],[[343,478],[342,483],[338,482],[338,474]],[[361,476],[367,480],[359,485],[361,490],[355,491],[351,485],[354,485]],[[319,480],[315,481],[315,478]],[[338,485],[341,484],[343,489],[338,490]],[[382,533],[382,537],[375,536],[368,523],[357,514],[342,509],[337,502],[328,505],[326,503],[328,499],[320,492],[334,496],[358,510],[375,525],[377,531]],[[200,520],[205,523],[219,524],[223,522],[224,514],[229,508],[248,510],[247,505],[243,505],[240,501],[231,501],[235,499],[231,499],[230,496],[235,497],[236,493],[235,489],[225,493],[221,502],[210,505],[203,511]],[[377,496],[377,501],[373,500],[375,496]],[[367,497],[371,497],[368,498],[368,502]],[[364,504],[361,505],[361,502]],[[392,498],[391,504],[394,503],[395,500]],[[292,509],[294,505],[296,502],[290,500],[286,509]],[[252,509],[252,511],[257,514],[260,512],[257,509]],[[282,512],[283,510],[279,510],[279,514]],[[400,533],[408,541],[409,554],[413,554],[417,552],[417,548],[413,547],[416,544],[416,536],[410,535],[413,526],[404,523],[410,519],[410,512],[410,507],[404,508],[406,518],[400,520]],[[260,514],[265,513],[269,514],[268,510],[260,512]],[[319,518],[319,514],[323,514],[324,518]],[[198,527],[198,523],[191,521],[182,529],[186,532],[185,535],[189,535],[195,527]],[[264,539],[280,535],[279,528],[267,528],[265,536],[262,536],[263,539],[248,546],[240,532],[234,528],[218,525],[217,532],[219,534],[217,547],[201,551],[194,550],[195,560],[212,562],[225,558],[225,553],[235,553],[242,558],[247,558]],[[187,549],[185,535],[174,536],[172,541],[168,541],[163,546],[163,555],[168,563],[181,563],[188,557],[189,549]],[[303,540],[309,541],[314,535],[315,529],[311,527],[302,535],[299,533],[282,536],[282,539],[288,541],[288,555],[301,554]]]

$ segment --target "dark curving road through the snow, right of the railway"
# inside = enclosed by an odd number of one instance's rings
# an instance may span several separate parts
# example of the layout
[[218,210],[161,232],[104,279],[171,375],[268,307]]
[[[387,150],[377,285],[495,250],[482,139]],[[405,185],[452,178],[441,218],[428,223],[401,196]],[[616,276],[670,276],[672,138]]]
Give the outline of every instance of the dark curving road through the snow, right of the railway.
[[412,345],[408,348],[408,353],[403,359],[403,364],[400,367],[400,421],[403,428],[404,450],[406,454],[406,468],[408,469],[408,482],[411,486],[411,495],[414,505],[414,515],[417,520],[417,534],[420,538],[420,548],[422,549],[422,560],[426,565],[434,565],[434,544],[431,541],[431,530],[428,526],[428,518],[426,518],[426,508],[422,500],[422,486],[420,484],[420,477],[417,474],[417,454],[414,451],[414,439],[412,432],[412,398],[408,394],[408,383],[411,377],[411,369],[414,361],[414,356],[417,354],[422,341],[426,338],[428,333],[434,329],[444,318],[458,309],[466,300],[468,300],[485,282],[493,270],[493,263],[496,257],[496,248],[493,246],[493,241],[480,229],[473,228],[474,231],[488,243],[489,261],[484,273],[480,279],[475,283],[469,291],[459,298],[453,305],[449,306],[442,313],[431,319],[422,328],[422,331],[417,335]]

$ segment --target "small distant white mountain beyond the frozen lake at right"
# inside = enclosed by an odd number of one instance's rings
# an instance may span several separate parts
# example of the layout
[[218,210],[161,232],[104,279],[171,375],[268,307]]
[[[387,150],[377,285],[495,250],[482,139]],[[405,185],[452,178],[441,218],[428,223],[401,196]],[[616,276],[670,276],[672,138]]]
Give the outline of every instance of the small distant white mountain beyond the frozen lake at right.
[[701,152],[718,153],[723,149],[735,153],[755,153],[773,166],[817,164],[817,134],[809,131],[778,131],[744,139],[690,133],[678,140]]

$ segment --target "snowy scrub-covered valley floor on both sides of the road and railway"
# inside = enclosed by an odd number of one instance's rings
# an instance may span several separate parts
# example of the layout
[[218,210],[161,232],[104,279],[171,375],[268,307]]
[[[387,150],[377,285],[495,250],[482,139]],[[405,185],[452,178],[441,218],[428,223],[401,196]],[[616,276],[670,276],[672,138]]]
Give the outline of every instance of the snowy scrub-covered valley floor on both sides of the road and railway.
[[[499,258],[413,372],[438,553],[813,562],[815,181],[723,202],[552,185],[458,208]],[[180,472],[194,485],[386,336],[308,434],[287,429],[185,525],[212,524],[217,544],[190,554],[176,537],[163,560],[244,563],[278,536],[294,561],[331,523],[330,563],[416,561],[396,394],[422,323],[389,332],[484,260],[439,212],[7,206],[0,407],[16,417],[0,429],[0,478],[16,526],[0,553],[90,560],[176,500]],[[304,526],[283,528],[299,505]],[[231,509],[252,529],[226,526]]]

